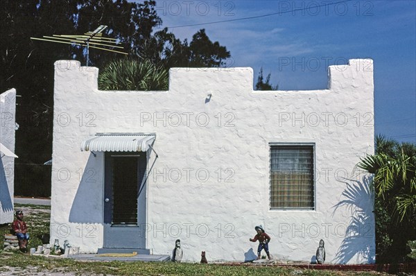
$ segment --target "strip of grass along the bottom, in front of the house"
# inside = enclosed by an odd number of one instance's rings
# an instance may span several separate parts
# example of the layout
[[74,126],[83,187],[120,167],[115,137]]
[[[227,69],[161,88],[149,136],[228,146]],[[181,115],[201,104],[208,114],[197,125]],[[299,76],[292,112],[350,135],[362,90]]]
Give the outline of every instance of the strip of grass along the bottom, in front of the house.
[[[380,275],[375,272],[338,272],[330,270],[300,270],[279,266],[229,266],[219,264],[177,264],[173,262],[141,261],[75,261],[72,259],[46,259],[21,253],[0,254],[4,266],[31,268],[31,272],[85,273],[87,275]],[[1,271],[1,270],[0,270]]]

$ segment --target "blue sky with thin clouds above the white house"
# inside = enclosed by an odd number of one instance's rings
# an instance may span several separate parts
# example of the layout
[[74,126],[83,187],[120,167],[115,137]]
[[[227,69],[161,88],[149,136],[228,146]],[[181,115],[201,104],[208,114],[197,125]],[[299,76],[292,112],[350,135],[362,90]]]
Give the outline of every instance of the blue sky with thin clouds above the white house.
[[[231,52],[227,64],[252,67],[255,80],[263,67],[281,90],[327,88],[328,64],[372,58],[376,134],[416,143],[416,1],[340,1],[184,0],[156,6],[162,27],[189,41],[205,28]],[[258,18],[172,28],[243,17]]]

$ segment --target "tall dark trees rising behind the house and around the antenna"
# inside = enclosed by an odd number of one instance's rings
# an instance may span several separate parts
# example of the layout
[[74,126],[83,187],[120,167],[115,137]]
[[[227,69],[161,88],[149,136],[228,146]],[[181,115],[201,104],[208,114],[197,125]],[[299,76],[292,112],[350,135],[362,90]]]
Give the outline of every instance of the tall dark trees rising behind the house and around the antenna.
[[[190,63],[220,66],[229,57],[225,47],[211,42],[205,31],[193,39],[209,45],[202,52],[191,49],[186,40],[181,42],[167,29],[154,33],[162,24],[155,1],[2,0],[1,4],[0,92],[15,88],[21,96],[17,98],[20,128],[16,132],[19,159],[15,166],[15,191],[21,195],[50,194],[50,167],[42,164],[51,159],[53,120],[59,115],[53,117],[53,63],[80,60],[85,64],[85,50],[80,46],[33,41],[30,37],[80,35],[107,25],[103,35],[118,39],[130,58],[141,64],[149,60],[165,69]],[[117,53],[90,49],[90,65],[101,69],[119,58]],[[197,64],[194,60],[202,61]],[[44,186],[48,189],[39,188]]]

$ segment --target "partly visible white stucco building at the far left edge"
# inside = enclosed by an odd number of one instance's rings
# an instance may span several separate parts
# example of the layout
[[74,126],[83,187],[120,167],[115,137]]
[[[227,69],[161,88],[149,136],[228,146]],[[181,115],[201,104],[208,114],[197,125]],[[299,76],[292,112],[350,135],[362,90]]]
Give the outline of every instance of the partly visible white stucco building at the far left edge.
[[[0,142],[15,152],[16,90],[0,94]],[[0,153],[0,224],[13,221],[15,158]]]

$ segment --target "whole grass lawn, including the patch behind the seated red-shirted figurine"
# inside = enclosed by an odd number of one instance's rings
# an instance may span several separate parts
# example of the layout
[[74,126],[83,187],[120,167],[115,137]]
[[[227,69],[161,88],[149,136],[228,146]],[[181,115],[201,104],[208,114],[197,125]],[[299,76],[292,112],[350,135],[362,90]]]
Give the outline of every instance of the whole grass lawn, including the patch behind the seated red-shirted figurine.
[[[31,240],[28,248],[42,245],[40,237],[49,233],[50,207],[42,205],[15,205],[24,212]],[[10,225],[0,225],[0,233],[8,234]],[[141,261],[76,261],[73,259],[51,259],[30,256],[19,250],[4,252],[0,248],[0,274],[13,273],[70,273],[71,275],[380,275],[376,272],[304,270],[281,266],[232,266],[224,264],[156,263]]]

